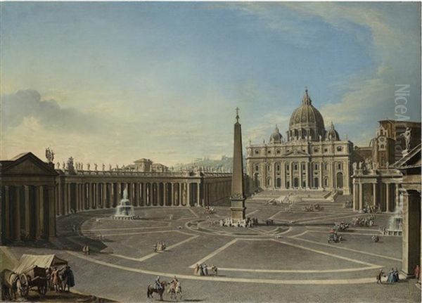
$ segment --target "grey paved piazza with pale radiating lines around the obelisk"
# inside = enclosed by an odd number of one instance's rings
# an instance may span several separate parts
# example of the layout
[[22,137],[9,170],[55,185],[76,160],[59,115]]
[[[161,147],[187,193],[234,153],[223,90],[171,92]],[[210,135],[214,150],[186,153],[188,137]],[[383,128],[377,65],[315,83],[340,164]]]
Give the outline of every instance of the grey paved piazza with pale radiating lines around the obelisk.
[[[286,212],[283,205],[249,200],[248,217],[274,220],[274,226],[254,228],[210,224],[227,217],[229,207],[216,207],[212,215],[198,207],[137,208],[144,219],[134,221],[110,219],[113,209],[94,210],[60,217],[54,250],[8,250],[15,257],[23,252],[56,253],[70,261],[75,290],[120,302],[147,301],[146,287],[156,276],[167,281],[177,276],[188,302],[420,301],[415,280],[375,283],[379,269],[401,264],[400,237],[381,236],[379,243],[371,242],[390,215],[377,214],[375,226],[352,227],[342,233],[343,243],[328,244],[333,222],[349,222],[358,214],[340,202],[320,203],[321,212],[302,211],[309,203]],[[153,252],[158,241],[167,243],[165,252]],[[93,253],[86,256],[81,247],[87,244]],[[194,276],[197,263],[215,264],[219,275]],[[170,300],[167,294],[164,298]]]

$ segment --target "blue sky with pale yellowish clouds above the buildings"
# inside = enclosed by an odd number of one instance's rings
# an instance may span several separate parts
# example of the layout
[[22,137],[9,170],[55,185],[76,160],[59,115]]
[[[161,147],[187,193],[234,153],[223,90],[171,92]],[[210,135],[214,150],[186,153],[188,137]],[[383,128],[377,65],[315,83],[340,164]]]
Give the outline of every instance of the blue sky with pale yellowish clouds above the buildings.
[[[305,86],[340,138],[421,120],[420,3],[1,2],[1,159],[175,165],[286,136]],[[409,85],[396,115],[395,91]]]

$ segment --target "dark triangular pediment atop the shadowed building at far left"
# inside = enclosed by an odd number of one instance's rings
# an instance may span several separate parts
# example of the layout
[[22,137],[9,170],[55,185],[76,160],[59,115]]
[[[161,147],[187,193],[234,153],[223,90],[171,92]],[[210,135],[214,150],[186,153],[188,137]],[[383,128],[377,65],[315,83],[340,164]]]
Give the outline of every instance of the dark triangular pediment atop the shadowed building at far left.
[[46,162],[41,161],[32,153],[26,153],[14,161],[8,162],[1,169],[2,175],[51,175],[56,171]]

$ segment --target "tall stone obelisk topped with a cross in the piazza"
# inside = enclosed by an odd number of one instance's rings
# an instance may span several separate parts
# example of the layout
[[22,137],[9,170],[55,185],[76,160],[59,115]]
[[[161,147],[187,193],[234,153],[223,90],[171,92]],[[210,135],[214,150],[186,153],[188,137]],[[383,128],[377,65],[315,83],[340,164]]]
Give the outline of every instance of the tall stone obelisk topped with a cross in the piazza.
[[245,219],[245,195],[243,193],[242,129],[239,123],[239,109],[236,108],[234,124],[233,174],[231,175],[231,219]]

